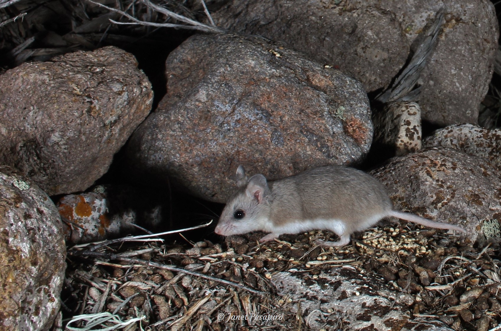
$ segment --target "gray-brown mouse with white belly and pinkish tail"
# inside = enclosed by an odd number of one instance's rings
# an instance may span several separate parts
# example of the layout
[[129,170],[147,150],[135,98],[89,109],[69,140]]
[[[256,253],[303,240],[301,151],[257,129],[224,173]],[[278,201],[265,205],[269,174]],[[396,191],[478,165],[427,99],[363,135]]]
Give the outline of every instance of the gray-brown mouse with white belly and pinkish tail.
[[466,232],[463,228],[400,212],[393,208],[384,185],[371,175],[348,166],[333,165],[268,181],[236,170],[237,189],[230,195],[215,233],[222,236],[267,232],[260,242],[282,234],[330,230],[337,241],[317,240],[323,246],[344,246],[350,237],[381,219],[396,217],[431,228]]

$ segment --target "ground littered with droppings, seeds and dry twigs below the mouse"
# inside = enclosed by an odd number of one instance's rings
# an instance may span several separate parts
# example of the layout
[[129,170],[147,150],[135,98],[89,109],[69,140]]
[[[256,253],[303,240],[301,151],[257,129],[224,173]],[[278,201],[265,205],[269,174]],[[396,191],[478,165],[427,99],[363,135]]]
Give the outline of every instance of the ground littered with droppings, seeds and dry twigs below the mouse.
[[[333,235],[312,231],[261,245],[262,234],[75,246],[64,317],[141,319],[126,330],[383,330],[388,323],[393,330],[489,330],[501,323],[496,248],[406,223],[370,229],[342,248],[313,243],[324,236]],[[351,281],[353,293],[319,298]],[[349,308],[362,298],[380,303],[365,313],[365,304]]]

